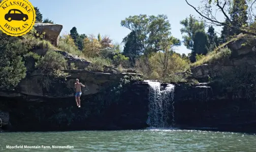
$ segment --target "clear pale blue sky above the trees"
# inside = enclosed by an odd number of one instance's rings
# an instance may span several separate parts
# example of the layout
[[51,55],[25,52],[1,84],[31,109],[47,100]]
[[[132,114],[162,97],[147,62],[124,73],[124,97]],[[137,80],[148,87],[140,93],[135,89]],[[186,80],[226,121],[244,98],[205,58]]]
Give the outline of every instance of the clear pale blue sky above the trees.
[[[172,35],[182,40],[179,22],[189,14],[198,14],[189,7],[185,0],[29,0],[38,7],[43,18],[49,18],[56,24],[63,25],[61,34],[76,27],[79,34],[108,35],[114,42],[121,42],[122,38],[130,33],[129,29],[121,27],[120,22],[130,15],[158,15],[165,14],[171,23]],[[193,2],[194,1],[194,2]],[[188,2],[198,7],[201,0]],[[220,31],[220,29],[216,29]],[[188,54],[191,50],[184,45],[176,48],[180,54]]]

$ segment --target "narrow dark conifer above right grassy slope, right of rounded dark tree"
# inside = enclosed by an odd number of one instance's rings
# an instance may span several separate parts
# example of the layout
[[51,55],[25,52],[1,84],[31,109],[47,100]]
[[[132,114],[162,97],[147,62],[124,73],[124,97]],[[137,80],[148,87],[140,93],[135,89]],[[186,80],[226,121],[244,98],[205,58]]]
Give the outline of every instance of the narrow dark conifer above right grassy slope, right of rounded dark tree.
[[208,50],[212,51],[216,46],[218,46],[218,36],[216,35],[216,33],[214,32],[214,28],[212,26],[210,26],[208,28],[207,31],[207,37],[209,39],[209,46],[208,46]]

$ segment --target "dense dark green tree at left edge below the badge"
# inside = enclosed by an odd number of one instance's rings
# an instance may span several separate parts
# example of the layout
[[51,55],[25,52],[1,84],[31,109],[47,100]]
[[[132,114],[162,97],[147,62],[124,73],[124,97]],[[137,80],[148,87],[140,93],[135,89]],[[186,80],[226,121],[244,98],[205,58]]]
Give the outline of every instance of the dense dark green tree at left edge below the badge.
[[0,31],[0,89],[13,89],[26,76],[22,56],[27,52],[19,38]]

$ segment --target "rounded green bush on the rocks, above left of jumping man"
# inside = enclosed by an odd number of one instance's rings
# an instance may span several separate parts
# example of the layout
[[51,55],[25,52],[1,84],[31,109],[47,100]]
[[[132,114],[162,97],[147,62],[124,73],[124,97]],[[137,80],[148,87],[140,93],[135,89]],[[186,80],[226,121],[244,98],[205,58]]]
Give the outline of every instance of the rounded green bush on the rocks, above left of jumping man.
[[67,61],[65,58],[53,51],[48,50],[46,55],[42,57],[39,62],[36,64],[36,67],[41,70],[64,70],[67,69]]

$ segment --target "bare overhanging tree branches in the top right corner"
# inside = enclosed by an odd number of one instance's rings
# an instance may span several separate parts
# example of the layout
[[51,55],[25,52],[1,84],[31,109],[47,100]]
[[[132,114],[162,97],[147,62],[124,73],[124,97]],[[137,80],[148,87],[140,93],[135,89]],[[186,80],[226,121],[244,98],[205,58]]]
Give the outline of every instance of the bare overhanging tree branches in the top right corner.
[[[236,0],[233,1],[235,3],[232,3],[232,1],[230,0],[215,0],[215,1],[208,1],[208,0],[203,0],[201,2],[202,6],[201,7],[194,7],[193,5],[189,4],[187,2],[187,0],[185,0],[187,5],[189,5],[190,7],[192,7],[200,16],[203,22],[205,23],[209,23],[211,25],[214,26],[227,26],[228,29],[231,30],[236,30],[237,33],[244,33],[244,34],[251,34],[251,35],[256,35],[256,28],[254,27],[246,27],[246,26],[241,26],[239,23],[244,23],[244,21],[246,20],[245,14],[246,14],[246,10],[248,10],[247,12],[247,18],[249,19],[249,21],[251,23],[254,23],[255,18],[253,15],[253,8],[255,8],[255,1],[250,1],[248,0],[247,3],[248,6],[250,6],[248,9],[246,6],[246,1],[245,0]],[[233,5],[234,4],[234,5]],[[216,5],[217,9],[212,9],[212,5]],[[232,9],[232,6],[238,7],[240,9],[240,13],[235,13],[237,12],[237,9]],[[239,10],[238,9],[238,10]],[[220,14],[219,14],[220,12]],[[229,13],[233,13],[232,17],[233,19],[236,18],[238,20],[238,22],[236,21],[232,21],[232,18],[229,17]],[[236,14],[236,15],[235,15]],[[219,17],[216,16],[223,16],[225,18],[224,21],[219,20]],[[237,18],[237,16],[240,16]]]

